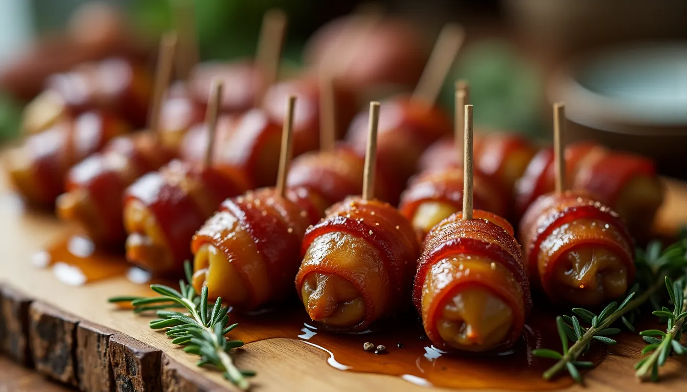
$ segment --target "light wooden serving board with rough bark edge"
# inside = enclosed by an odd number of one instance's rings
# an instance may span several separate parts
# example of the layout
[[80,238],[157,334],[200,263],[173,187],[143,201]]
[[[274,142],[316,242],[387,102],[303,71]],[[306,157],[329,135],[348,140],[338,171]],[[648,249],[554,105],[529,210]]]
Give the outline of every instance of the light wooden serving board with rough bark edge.
[[[662,235],[687,223],[687,185],[666,184],[666,204],[655,226]],[[197,357],[150,330],[149,318],[106,303],[114,295],[139,293],[142,286],[124,277],[68,286],[52,270],[31,264],[36,251],[69,230],[54,216],[24,209],[5,178],[0,178],[0,349],[5,356],[82,391],[234,389],[217,371],[196,367]],[[639,384],[633,364],[644,344],[639,336],[622,343],[611,347],[611,354],[586,373],[587,387],[613,392],[685,389],[685,358],[668,360],[659,384]],[[251,378],[254,391],[429,389],[394,376],[337,370],[328,365],[325,351],[291,339],[249,343],[240,351],[235,356],[238,366],[257,371]],[[572,385],[565,390],[587,389]]]

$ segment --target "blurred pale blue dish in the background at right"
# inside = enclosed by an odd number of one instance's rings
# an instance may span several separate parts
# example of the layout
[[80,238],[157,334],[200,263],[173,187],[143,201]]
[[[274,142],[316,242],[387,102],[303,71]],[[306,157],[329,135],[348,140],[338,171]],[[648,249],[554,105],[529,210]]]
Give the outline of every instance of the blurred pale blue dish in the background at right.
[[571,62],[549,96],[565,101],[571,139],[646,155],[660,172],[687,178],[686,64],[687,44],[620,47]]

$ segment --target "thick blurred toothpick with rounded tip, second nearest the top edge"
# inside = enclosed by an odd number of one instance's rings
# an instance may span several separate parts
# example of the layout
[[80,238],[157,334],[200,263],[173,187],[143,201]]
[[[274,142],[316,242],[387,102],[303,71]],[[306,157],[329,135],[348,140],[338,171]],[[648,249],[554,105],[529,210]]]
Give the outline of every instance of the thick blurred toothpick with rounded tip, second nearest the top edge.
[[267,89],[277,80],[282,45],[286,32],[286,14],[282,10],[269,10],[262,18],[256,65],[260,70],[261,82],[256,91],[255,106],[260,106]]

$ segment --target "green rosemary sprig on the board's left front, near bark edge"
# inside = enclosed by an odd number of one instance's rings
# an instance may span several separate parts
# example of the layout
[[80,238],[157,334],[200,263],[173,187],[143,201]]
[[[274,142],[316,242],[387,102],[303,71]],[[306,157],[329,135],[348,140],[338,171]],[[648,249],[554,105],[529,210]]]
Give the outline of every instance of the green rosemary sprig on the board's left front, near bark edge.
[[[113,297],[109,302],[131,302],[133,311],[155,311],[159,319],[150,321],[153,330],[166,330],[172,343],[183,345],[183,351],[201,356],[198,366],[214,365],[224,373],[227,380],[236,384],[240,389],[249,389],[250,384],[245,377],[255,376],[254,371],[239,370],[232,357],[232,349],[243,346],[243,341],[227,341],[225,334],[233,330],[237,324],[229,324],[227,307],[222,305],[222,299],[210,305],[207,301],[207,287],[203,287],[200,297],[191,282],[192,270],[189,262],[184,264],[187,281],[179,281],[179,291],[169,286],[152,284],[150,288],[160,294],[159,297]],[[188,282],[188,283],[187,283]],[[181,308],[188,313],[170,309]]]

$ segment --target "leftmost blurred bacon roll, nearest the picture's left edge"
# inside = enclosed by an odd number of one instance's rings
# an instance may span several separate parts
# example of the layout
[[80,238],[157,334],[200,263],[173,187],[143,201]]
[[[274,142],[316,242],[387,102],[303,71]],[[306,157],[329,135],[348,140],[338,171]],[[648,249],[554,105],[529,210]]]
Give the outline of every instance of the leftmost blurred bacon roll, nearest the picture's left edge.
[[129,130],[120,119],[102,112],[66,117],[10,152],[10,179],[30,202],[52,206],[65,192],[69,168]]

